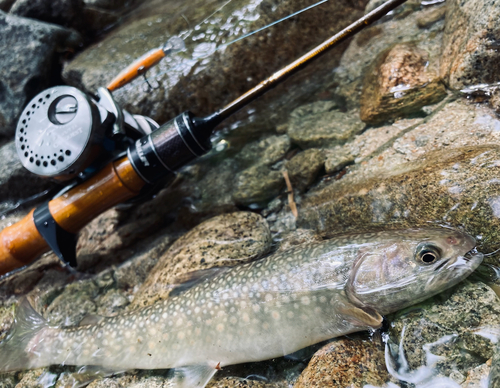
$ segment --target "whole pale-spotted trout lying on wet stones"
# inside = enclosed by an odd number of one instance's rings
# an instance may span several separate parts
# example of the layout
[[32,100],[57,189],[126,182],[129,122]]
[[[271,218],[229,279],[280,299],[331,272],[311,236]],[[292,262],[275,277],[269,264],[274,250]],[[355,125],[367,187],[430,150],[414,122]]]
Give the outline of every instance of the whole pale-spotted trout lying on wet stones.
[[449,229],[350,234],[232,267],[96,325],[48,326],[27,301],[0,345],[3,371],[51,364],[175,368],[204,387],[219,367],[261,361],[355,331],[467,277],[481,254]]

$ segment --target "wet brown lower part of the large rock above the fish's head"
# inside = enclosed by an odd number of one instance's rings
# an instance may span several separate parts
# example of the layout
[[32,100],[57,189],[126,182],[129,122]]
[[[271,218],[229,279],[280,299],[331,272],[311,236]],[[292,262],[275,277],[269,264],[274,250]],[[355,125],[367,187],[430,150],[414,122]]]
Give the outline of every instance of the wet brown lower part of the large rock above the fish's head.
[[297,224],[322,233],[446,224],[464,228],[481,252],[491,252],[500,241],[499,160],[496,146],[459,148],[374,170],[362,180],[343,178],[306,198]]

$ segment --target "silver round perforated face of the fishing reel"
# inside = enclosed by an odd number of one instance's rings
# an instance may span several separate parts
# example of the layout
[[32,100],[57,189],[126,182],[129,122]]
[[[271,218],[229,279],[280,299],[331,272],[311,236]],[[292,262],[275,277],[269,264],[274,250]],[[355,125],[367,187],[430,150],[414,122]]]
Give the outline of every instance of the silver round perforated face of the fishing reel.
[[96,105],[71,86],[56,86],[35,96],[16,128],[16,150],[30,172],[68,180],[87,167],[104,136]]

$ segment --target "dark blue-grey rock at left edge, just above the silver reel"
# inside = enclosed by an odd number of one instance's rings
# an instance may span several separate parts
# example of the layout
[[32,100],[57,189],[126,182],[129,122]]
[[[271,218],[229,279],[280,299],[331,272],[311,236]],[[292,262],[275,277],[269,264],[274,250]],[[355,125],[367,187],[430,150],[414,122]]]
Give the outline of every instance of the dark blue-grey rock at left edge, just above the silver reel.
[[[58,78],[58,55],[75,47],[75,32],[0,11],[0,137],[14,134],[24,104]],[[29,47],[29,50],[26,48]]]

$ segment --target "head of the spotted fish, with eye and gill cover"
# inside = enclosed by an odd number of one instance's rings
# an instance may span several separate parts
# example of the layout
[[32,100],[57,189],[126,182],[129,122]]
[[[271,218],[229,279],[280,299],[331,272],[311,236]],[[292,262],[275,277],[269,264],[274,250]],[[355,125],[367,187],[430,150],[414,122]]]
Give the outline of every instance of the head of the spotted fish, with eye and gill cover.
[[475,245],[468,234],[444,228],[387,233],[360,251],[346,293],[360,307],[397,311],[469,276],[483,259]]

